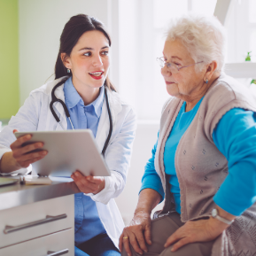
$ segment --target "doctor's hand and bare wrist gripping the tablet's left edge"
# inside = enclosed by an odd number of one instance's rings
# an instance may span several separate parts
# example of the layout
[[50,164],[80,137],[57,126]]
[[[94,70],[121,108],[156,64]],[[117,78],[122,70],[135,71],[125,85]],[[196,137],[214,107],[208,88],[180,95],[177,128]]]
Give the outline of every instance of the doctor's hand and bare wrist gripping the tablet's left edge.
[[[18,132],[14,129],[13,134]],[[43,159],[47,151],[35,151],[43,147],[43,143],[22,145],[32,138],[31,135],[21,136],[10,145],[12,151],[6,152],[1,160],[1,171],[10,173],[20,168],[27,168],[30,164]]]

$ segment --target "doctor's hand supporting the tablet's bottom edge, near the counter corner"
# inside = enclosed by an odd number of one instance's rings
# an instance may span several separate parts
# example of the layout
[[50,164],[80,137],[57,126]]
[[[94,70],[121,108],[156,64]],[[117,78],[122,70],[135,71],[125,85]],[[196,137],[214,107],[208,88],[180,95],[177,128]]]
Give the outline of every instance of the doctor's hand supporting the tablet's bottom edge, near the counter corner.
[[81,192],[88,194],[93,193],[97,194],[105,188],[105,179],[100,176],[84,176],[79,171],[75,171],[71,178],[74,180],[78,189]]

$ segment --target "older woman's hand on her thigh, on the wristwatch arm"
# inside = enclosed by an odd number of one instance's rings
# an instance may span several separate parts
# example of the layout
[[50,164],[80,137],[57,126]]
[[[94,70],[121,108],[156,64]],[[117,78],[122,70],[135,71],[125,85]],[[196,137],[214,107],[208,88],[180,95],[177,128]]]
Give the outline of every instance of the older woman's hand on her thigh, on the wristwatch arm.
[[174,244],[171,251],[175,252],[185,244],[212,241],[228,226],[212,217],[208,220],[188,221],[168,237],[165,247]]

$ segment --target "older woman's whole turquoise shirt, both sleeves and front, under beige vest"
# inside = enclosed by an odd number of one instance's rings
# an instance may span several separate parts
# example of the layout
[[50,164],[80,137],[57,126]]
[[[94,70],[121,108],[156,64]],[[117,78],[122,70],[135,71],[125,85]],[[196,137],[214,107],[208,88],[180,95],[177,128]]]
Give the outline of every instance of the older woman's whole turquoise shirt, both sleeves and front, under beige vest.
[[[175,151],[182,135],[198,112],[201,101],[202,99],[190,112],[185,112],[186,103],[182,105],[165,146],[165,171],[171,175],[169,182],[178,213],[181,213],[181,201],[175,172]],[[213,142],[229,162],[229,175],[213,200],[228,213],[240,215],[256,201],[256,113],[239,108],[227,112],[213,130]],[[164,198],[164,190],[154,168],[156,148],[157,144],[154,145],[152,157],[145,167],[141,190],[157,190]]]

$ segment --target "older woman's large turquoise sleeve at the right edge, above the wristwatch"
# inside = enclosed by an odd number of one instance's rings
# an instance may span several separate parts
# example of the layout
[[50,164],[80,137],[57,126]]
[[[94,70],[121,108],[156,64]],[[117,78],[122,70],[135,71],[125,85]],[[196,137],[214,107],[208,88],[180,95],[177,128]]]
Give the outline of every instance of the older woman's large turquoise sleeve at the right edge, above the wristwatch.
[[213,130],[213,142],[229,166],[213,201],[238,216],[256,201],[256,113],[239,108],[226,112]]

